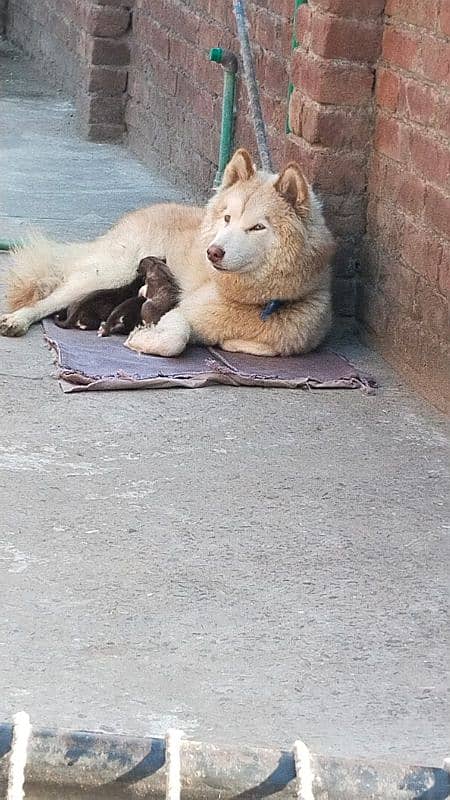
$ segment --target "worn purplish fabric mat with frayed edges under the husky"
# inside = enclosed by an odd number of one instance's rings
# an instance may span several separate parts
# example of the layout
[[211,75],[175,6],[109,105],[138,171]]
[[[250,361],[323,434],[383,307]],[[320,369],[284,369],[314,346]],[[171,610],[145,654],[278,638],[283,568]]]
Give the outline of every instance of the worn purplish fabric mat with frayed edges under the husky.
[[211,383],[371,391],[376,385],[327,349],[304,356],[264,358],[190,347],[178,358],[159,358],[128,350],[123,346],[123,336],[102,338],[95,331],[65,330],[51,319],[44,320],[43,326],[45,338],[56,352],[58,377],[65,392],[173,386],[195,389]]

